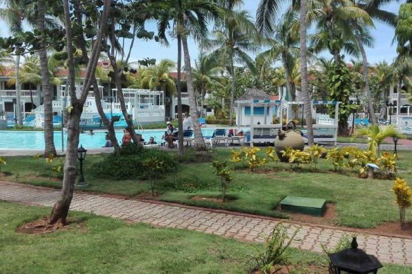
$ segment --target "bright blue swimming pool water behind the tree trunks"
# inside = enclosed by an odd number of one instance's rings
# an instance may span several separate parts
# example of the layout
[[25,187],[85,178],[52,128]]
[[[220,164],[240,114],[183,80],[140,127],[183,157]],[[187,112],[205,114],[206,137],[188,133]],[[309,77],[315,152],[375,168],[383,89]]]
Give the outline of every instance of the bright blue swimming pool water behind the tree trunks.
[[[213,134],[213,128],[202,128],[203,137],[211,137]],[[146,140],[149,137],[155,137],[155,141],[161,141],[165,130],[143,130],[136,131],[140,133]],[[80,144],[84,148],[101,148],[104,146],[106,140],[104,137],[106,133],[104,131],[95,131],[94,135],[86,133],[80,133]],[[123,131],[116,130],[117,140],[122,140]],[[67,133],[63,135],[63,139],[66,145]],[[60,131],[54,132],[54,144],[56,149],[62,148],[62,135]],[[0,130],[0,149],[30,149],[30,150],[43,150],[45,148],[45,137],[43,131],[8,131]],[[65,146],[66,148],[66,146]]]

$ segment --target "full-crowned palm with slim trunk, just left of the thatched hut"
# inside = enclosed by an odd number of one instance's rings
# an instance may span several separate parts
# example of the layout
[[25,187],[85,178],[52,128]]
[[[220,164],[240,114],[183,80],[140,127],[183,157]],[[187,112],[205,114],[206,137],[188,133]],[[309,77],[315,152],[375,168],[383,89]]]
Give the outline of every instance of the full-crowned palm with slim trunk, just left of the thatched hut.
[[231,76],[229,123],[233,122],[234,94],[236,89],[235,63],[244,64],[255,71],[255,62],[248,55],[254,54],[258,49],[258,32],[246,10],[236,10],[243,2],[239,0],[221,1],[225,8],[222,19],[216,21],[216,30],[212,32],[213,38],[203,43],[205,49],[212,49],[211,54],[229,67]]

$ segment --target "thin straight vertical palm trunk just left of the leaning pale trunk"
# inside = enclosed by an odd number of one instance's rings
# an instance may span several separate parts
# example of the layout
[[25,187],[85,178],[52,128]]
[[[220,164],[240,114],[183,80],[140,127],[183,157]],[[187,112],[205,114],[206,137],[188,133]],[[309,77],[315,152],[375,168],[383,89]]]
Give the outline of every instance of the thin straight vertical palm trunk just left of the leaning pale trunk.
[[177,34],[177,121],[179,131],[177,137],[179,138],[179,156],[183,156],[183,115],[182,115],[182,41],[180,34]]

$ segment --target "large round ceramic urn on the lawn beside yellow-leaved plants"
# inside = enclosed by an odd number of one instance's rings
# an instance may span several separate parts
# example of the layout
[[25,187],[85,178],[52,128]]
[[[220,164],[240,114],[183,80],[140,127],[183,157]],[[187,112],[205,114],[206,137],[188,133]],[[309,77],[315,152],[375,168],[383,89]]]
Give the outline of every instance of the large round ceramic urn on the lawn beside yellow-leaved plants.
[[286,150],[286,148],[293,148],[295,150],[304,151],[305,141],[304,141],[304,137],[302,137],[300,130],[279,129],[277,131],[277,136],[275,138],[275,149],[276,149],[277,157],[279,157],[280,161],[283,161],[283,162],[288,161],[287,158],[282,157],[282,152],[281,152],[282,150]]

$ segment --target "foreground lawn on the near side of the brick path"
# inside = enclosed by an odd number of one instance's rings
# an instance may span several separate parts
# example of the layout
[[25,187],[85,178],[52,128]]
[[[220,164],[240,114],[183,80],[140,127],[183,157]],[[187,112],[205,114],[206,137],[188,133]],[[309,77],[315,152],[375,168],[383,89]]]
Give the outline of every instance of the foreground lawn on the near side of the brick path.
[[[0,273],[249,273],[260,244],[238,242],[196,231],[155,228],[85,213],[65,231],[16,233],[25,222],[46,216],[46,207],[0,202]],[[294,274],[323,267],[325,255],[290,249]],[[412,268],[386,264],[379,273],[407,274]]]

